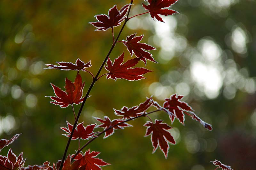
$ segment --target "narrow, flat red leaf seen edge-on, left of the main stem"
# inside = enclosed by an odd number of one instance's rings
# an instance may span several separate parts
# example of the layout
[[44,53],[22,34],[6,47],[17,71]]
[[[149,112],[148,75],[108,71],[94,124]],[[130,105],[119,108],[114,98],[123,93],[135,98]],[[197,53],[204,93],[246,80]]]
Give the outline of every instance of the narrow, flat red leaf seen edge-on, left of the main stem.
[[59,65],[45,64],[48,68],[45,69],[60,69],[60,70],[82,70],[86,71],[84,68],[91,67],[91,60],[88,63],[84,63],[79,58],[76,60],[76,64],[69,62],[56,62]]

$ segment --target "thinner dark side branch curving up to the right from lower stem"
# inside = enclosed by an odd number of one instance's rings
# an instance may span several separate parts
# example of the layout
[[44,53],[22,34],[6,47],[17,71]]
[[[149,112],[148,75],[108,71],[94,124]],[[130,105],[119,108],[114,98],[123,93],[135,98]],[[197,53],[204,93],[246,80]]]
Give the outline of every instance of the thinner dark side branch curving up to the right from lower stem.
[[[107,128],[107,129],[101,131],[101,132],[97,135],[97,137],[93,137],[93,138],[90,139],[86,144],[84,144],[84,146],[82,146],[82,147],[76,152],[76,154],[73,156],[73,158],[71,159],[71,161],[73,161],[74,158],[76,157],[76,155],[78,155],[78,153],[81,152],[88,144],[90,144],[92,141],[94,141],[96,138],[98,138],[100,135],[102,135],[103,133],[105,133],[105,132],[108,131],[109,129],[112,129],[112,128],[114,128],[114,127],[116,127],[116,126],[118,126],[118,125],[120,125],[120,124],[122,124],[122,123],[129,122],[129,121],[131,121],[131,120],[133,120],[133,119],[137,119],[137,118],[139,118],[139,117],[147,116],[147,115],[149,115],[149,114],[151,114],[151,113],[155,113],[155,112],[158,112],[158,111],[161,111],[161,109],[157,109],[157,110],[154,110],[154,111],[152,111],[152,112],[144,113],[144,114],[139,115],[139,116],[137,116],[137,117],[133,117],[133,118],[127,119],[127,120],[125,120],[124,122],[117,123],[117,124],[115,124],[114,126],[111,126],[111,127]],[[151,119],[150,119],[150,120],[151,120]],[[151,122],[152,122],[152,120],[151,120]]]

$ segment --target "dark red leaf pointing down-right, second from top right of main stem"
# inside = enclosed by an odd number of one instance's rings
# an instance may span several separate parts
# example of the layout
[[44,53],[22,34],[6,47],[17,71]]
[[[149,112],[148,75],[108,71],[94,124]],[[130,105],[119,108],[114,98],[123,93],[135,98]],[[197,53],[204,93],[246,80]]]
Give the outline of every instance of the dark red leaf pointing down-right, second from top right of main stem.
[[145,50],[155,50],[156,48],[145,44],[145,43],[140,43],[144,35],[136,36],[136,33],[132,35],[128,35],[126,37],[126,41],[122,41],[124,45],[127,47],[128,51],[130,54],[136,55],[140,60],[142,60],[146,64],[146,59],[150,60],[152,62],[156,62],[156,60],[152,57],[152,54],[150,54],[148,51]]

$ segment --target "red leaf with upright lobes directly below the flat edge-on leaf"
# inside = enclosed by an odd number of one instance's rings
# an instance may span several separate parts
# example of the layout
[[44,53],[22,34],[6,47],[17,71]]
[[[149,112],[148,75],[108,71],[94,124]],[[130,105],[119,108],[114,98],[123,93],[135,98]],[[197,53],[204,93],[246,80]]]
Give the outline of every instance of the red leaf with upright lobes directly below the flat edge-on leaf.
[[68,107],[68,105],[82,103],[84,98],[81,98],[83,95],[84,82],[82,83],[82,78],[79,72],[76,74],[76,79],[72,83],[68,78],[65,80],[65,89],[66,92],[62,91],[59,87],[52,85],[54,94],[56,96],[45,96],[50,97],[54,101],[50,101],[55,105],[60,105],[60,107]]

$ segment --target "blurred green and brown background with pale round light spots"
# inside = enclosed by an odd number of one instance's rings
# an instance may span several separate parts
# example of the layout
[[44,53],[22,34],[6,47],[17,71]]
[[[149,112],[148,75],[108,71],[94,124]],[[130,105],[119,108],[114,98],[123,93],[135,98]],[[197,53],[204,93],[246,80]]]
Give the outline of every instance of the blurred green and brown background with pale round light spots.
[[[145,12],[142,2],[134,0],[130,16]],[[73,122],[72,109],[53,105],[44,96],[54,95],[50,82],[63,89],[65,78],[73,81],[76,71],[43,70],[44,64],[74,63],[79,57],[92,60],[88,70],[96,74],[112,45],[111,30],[94,32],[88,22],[96,21],[97,14],[107,14],[114,4],[120,9],[129,1],[102,3],[0,1],[0,138],[22,133],[10,147],[16,154],[24,152],[26,166],[62,157],[68,138],[61,135],[60,127],[66,126],[66,120]],[[150,137],[143,137],[146,118],[132,121],[134,127],[117,130],[107,139],[96,139],[88,148],[100,151],[99,158],[112,164],[103,167],[106,170],[213,170],[216,167],[210,161],[214,159],[236,170],[255,170],[255,0],[180,0],[172,9],[180,14],[163,16],[165,23],[148,14],[131,19],[120,37],[144,34],[142,42],[157,48],[152,54],[159,64],[146,66],[154,72],[132,82],[101,78],[79,122],[95,123],[92,116],[115,119],[113,108],[138,105],[151,95],[162,104],[178,93],[213,130],[205,130],[189,117],[186,126],[176,120],[171,133],[177,144],[170,146],[168,159],[159,149],[151,154]],[[115,27],[116,35],[119,29]],[[125,59],[130,59],[123,44],[116,45],[111,59],[123,51]],[[81,74],[85,93],[92,78]],[[171,124],[165,113],[151,118]],[[71,143],[70,154],[77,144],[77,140]],[[8,150],[4,148],[1,155]]]

